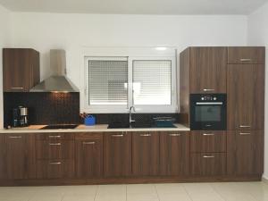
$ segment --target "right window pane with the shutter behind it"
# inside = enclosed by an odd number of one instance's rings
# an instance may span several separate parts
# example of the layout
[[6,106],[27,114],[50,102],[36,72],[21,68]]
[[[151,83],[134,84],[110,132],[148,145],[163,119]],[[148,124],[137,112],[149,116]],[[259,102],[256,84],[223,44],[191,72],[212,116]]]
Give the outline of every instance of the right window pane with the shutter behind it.
[[172,105],[172,61],[133,61],[134,105]]

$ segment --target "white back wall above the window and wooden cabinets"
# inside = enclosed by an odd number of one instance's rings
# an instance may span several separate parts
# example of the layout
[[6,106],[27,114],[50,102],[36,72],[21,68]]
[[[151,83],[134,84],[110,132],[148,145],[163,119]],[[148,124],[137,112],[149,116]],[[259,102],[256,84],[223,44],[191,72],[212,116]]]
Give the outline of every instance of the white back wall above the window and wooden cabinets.
[[157,16],[13,13],[13,44],[41,52],[41,79],[50,48],[67,51],[67,71],[80,86],[82,46],[244,46],[246,16]]

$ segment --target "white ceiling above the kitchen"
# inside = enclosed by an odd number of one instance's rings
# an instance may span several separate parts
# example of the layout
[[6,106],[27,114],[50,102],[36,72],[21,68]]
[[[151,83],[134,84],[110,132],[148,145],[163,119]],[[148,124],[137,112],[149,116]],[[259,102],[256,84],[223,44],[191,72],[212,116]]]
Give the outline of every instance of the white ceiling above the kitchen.
[[0,0],[20,12],[248,14],[268,0]]

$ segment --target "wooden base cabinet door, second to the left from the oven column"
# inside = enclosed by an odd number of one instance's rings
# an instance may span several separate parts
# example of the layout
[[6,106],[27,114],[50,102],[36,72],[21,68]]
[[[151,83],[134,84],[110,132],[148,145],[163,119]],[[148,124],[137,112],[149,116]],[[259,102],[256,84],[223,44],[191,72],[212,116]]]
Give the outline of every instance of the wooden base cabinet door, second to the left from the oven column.
[[132,133],[132,172],[135,176],[159,174],[159,134]]

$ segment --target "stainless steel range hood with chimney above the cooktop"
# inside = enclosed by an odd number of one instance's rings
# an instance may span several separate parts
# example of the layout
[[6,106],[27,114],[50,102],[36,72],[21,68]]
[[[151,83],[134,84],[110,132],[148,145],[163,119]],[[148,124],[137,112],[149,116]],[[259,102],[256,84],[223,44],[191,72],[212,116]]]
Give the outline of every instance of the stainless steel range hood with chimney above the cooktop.
[[66,77],[66,54],[64,50],[50,50],[50,67],[54,71],[53,75],[31,88],[30,92],[79,92],[79,89]]

